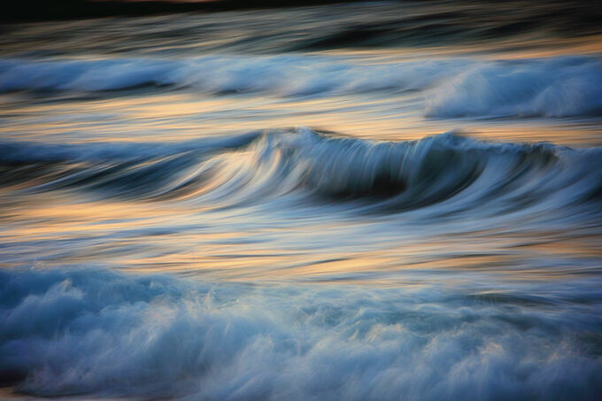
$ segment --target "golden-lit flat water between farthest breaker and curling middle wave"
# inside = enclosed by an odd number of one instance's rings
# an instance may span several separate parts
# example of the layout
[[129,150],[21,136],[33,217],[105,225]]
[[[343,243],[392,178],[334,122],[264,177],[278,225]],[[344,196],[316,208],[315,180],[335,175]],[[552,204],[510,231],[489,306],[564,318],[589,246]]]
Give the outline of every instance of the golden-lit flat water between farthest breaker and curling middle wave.
[[[134,96],[138,95],[138,96]],[[451,129],[479,139],[591,146],[602,144],[598,119],[425,119],[405,102],[414,94],[327,98],[144,94],[0,107],[4,139],[44,142],[163,142],[237,135],[258,127],[307,126],[384,141],[416,140]]]

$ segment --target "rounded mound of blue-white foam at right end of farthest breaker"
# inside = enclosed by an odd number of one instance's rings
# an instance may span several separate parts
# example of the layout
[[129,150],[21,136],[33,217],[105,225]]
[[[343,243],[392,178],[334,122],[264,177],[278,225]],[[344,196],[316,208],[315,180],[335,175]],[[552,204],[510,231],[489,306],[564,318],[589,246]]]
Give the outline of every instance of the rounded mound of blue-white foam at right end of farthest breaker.
[[429,117],[602,114],[602,62],[552,58],[477,65],[437,86]]

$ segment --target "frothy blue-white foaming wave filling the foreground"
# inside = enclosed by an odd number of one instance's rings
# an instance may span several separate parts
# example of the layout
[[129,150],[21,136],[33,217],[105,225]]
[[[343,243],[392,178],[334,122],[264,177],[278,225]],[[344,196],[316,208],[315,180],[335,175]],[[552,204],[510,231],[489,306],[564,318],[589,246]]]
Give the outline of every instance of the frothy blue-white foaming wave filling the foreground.
[[597,285],[496,296],[4,270],[0,375],[45,397],[593,400]]

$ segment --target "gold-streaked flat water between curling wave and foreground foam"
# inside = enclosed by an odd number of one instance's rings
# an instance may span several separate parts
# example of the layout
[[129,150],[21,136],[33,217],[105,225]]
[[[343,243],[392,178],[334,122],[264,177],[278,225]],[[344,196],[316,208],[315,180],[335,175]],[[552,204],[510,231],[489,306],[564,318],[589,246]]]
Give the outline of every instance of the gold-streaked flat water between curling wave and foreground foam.
[[[378,219],[338,223],[250,222],[187,202],[87,201],[54,197],[3,208],[2,266],[113,266],[132,272],[172,271],[220,281],[317,281],[416,285],[475,280],[554,280],[588,273],[571,258],[600,258],[598,235],[553,231],[412,235],[390,227],[371,243],[362,229]],[[251,218],[250,218],[251,219]],[[402,216],[403,219],[403,216]],[[355,228],[353,228],[355,227]],[[409,229],[409,228],[408,228]],[[399,231],[401,230],[401,231]],[[345,244],[341,233],[365,238]],[[413,234],[413,233],[412,233]],[[338,239],[341,238],[341,239]],[[529,260],[548,260],[529,266]],[[592,267],[593,268],[593,267]],[[458,277],[453,271],[463,271]]]

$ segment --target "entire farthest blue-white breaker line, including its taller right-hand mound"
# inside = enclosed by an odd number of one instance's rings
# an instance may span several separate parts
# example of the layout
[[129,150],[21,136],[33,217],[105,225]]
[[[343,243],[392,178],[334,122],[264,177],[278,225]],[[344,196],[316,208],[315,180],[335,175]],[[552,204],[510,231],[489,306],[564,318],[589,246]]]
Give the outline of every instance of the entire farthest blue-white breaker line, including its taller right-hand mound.
[[0,93],[77,93],[143,86],[274,96],[418,90],[424,92],[424,113],[433,118],[602,113],[602,62],[596,57],[513,61],[456,58],[378,65],[308,55],[0,61]]

